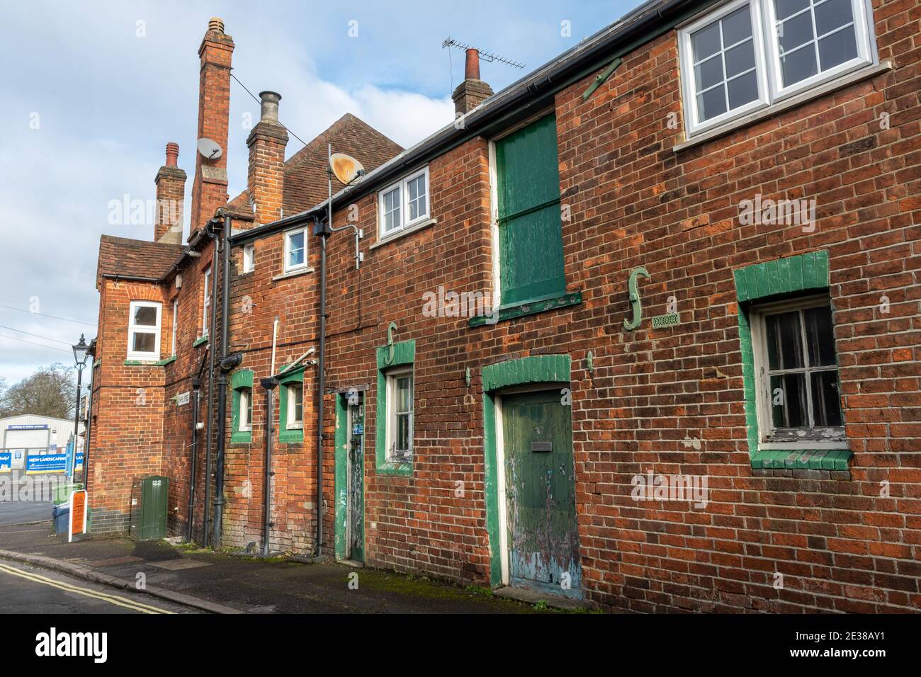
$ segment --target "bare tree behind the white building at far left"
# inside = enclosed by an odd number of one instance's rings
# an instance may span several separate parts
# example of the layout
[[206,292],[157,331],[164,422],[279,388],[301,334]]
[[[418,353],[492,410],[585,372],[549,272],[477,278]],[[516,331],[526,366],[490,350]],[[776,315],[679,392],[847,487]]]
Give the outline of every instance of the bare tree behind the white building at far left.
[[55,362],[0,392],[0,416],[36,414],[73,418],[76,382],[73,368]]

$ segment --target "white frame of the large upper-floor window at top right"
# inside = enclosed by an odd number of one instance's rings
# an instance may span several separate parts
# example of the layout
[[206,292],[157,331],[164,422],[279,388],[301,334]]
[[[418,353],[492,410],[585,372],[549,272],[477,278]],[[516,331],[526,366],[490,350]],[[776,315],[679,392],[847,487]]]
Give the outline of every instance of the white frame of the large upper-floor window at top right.
[[[684,112],[684,126],[687,136],[690,138],[706,130],[727,125],[748,113],[769,108],[775,103],[788,99],[799,92],[818,88],[859,68],[878,64],[879,55],[876,49],[876,35],[869,0],[850,0],[850,2],[857,37],[857,57],[786,88],[782,85],[779,42],[774,28],[776,22],[775,0],[732,0],[732,2],[717,6],[716,9],[706,10],[704,14],[698,15],[698,17],[691,19],[689,23],[683,25],[678,31],[678,52],[682,81],[682,110]],[[691,34],[745,5],[751,7],[758,98],[739,108],[717,115],[717,117],[710,120],[700,121],[697,117]]]

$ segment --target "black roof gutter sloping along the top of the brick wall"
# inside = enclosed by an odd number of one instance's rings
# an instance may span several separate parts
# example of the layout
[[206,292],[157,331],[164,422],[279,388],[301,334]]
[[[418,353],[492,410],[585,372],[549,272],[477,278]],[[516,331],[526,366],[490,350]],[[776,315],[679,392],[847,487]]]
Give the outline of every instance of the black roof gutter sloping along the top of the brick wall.
[[[637,7],[620,21],[580,42],[576,47],[560,54],[553,61],[542,65],[529,76],[509,85],[480,106],[467,113],[462,119],[463,127],[454,123],[437,131],[400,155],[367,173],[355,186],[346,187],[332,196],[333,208],[346,200],[373,191],[391,182],[415,166],[425,164],[431,158],[444,154],[450,148],[484,133],[491,125],[501,123],[525,108],[535,99],[547,97],[573,82],[588,76],[603,64],[617,56],[633,52],[637,47],[670,30],[676,21],[690,17],[699,8],[712,5],[717,0],[651,0]],[[251,228],[231,238],[234,243],[256,239],[278,230],[302,226],[313,221],[326,209],[323,201],[310,209],[292,216],[286,216],[261,227]]]

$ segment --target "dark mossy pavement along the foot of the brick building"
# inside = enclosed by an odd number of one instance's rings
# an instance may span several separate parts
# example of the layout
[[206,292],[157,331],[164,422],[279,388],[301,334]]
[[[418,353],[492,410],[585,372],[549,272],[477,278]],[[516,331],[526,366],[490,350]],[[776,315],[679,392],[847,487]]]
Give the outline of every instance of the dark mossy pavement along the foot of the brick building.
[[[143,586],[157,603],[209,613],[535,613],[543,607],[489,589],[334,562],[261,559],[127,536],[66,543],[50,521],[0,526],[0,566],[17,563],[110,588]],[[0,613],[14,611],[0,595]]]

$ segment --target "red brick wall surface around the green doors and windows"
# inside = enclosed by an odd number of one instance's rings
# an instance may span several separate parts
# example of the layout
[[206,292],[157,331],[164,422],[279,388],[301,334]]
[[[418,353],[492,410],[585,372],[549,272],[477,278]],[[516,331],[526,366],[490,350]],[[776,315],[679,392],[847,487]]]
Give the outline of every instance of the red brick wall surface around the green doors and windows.
[[[502,359],[572,356],[573,437],[583,586],[603,606],[635,611],[907,611],[921,606],[918,382],[918,6],[874,3],[880,59],[894,68],[716,140],[675,151],[681,97],[675,32],[639,48],[588,101],[592,77],[559,92],[567,291],[583,303],[475,329],[426,318],[423,294],[491,289],[488,146],[473,139],[429,165],[434,226],[371,248],[376,198],[356,201],[371,237],[355,271],[353,240],[330,240],[328,384],[370,386],[366,399],[366,559],[483,584],[491,554],[484,501],[480,373]],[[890,114],[888,129],[880,114]],[[817,228],[741,226],[755,193],[814,198]],[[352,222],[355,222],[354,220]],[[346,223],[343,211],[336,226]],[[271,322],[279,364],[315,331],[315,279],[272,282],[281,236],[257,240],[256,272],[234,281],[232,341],[266,375]],[[316,239],[311,238],[311,257]],[[744,413],[733,271],[829,252],[849,473],[753,471]],[[624,332],[626,281],[646,265],[647,318],[677,300],[682,323]],[[236,310],[241,295],[251,314]],[[880,314],[880,297],[891,311]],[[410,476],[377,473],[374,349],[386,328],[414,339],[415,458]],[[586,356],[594,356],[589,374]],[[464,371],[472,370],[472,385]],[[312,372],[308,372],[309,375]],[[306,392],[315,397],[306,384]],[[308,397],[305,396],[305,403]],[[323,512],[332,543],[332,396],[327,396]],[[228,477],[239,543],[256,539],[264,414]],[[312,403],[311,403],[312,404]],[[311,413],[305,406],[305,422]],[[700,449],[686,446],[700,439]],[[310,438],[305,430],[305,440]],[[257,443],[258,442],[258,443]],[[309,547],[311,449],[286,449],[274,495],[280,546]],[[236,453],[236,450],[235,450]],[[297,470],[292,466],[297,459]],[[711,500],[637,503],[636,473],[705,475]],[[230,473],[228,473],[230,474]],[[455,480],[465,496],[454,495]],[[889,496],[880,495],[880,482]],[[255,489],[254,489],[255,491]],[[306,507],[305,507],[306,506]],[[281,510],[285,510],[284,514]],[[242,536],[242,538],[239,538]],[[299,540],[298,540],[299,539]],[[775,589],[775,574],[785,577]]]

